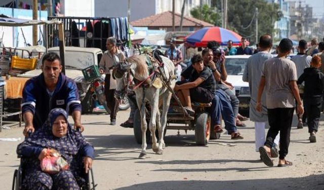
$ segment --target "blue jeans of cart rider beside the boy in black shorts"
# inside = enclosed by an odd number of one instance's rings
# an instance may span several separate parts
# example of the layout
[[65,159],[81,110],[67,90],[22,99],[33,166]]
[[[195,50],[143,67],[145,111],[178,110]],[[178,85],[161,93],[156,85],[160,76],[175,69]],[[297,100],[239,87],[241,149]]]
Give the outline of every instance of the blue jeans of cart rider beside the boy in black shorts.
[[237,128],[235,126],[233,108],[226,93],[221,89],[217,89],[211,106],[211,120],[213,126],[221,124],[221,115],[228,134],[236,132]]

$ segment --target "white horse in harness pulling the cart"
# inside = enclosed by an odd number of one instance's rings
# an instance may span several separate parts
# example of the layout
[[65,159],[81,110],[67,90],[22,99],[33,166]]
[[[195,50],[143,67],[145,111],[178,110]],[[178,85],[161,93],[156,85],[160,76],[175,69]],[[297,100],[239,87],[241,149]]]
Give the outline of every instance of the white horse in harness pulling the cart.
[[[140,159],[146,158],[147,147],[145,135],[147,129],[147,123],[145,120],[145,102],[149,102],[151,106],[151,118],[149,122],[149,129],[152,134],[152,149],[156,154],[161,155],[163,154],[163,148],[165,147],[164,130],[167,124],[167,113],[172,95],[172,93],[166,88],[165,85],[163,85],[161,88],[154,87],[160,85],[156,85],[156,83],[152,85],[154,79],[153,81],[151,81],[150,75],[153,76],[154,74],[156,74],[155,79],[157,79],[157,81],[161,83],[163,79],[161,79],[161,73],[159,71],[162,71],[165,76],[165,79],[169,80],[169,85],[172,89],[174,88],[176,82],[174,74],[175,67],[170,59],[164,56],[157,57],[163,61],[161,68],[157,69],[159,65],[152,62],[153,66],[155,66],[155,69],[149,71],[148,66],[146,64],[146,56],[147,55],[142,54],[130,57],[125,61],[120,62],[113,71],[117,82],[117,86],[115,89],[117,98],[119,98],[121,94],[125,93],[125,89],[128,85],[126,83],[128,83],[127,81],[129,81],[129,79],[125,80],[127,78],[126,76],[133,76],[135,80],[131,79],[131,81],[136,81],[135,86],[138,86],[133,90],[136,94],[136,102],[141,115],[142,151],[139,156]],[[163,111],[161,117],[158,107],[159,98],[163,100]],[[158,143],[155,136],[156,127],[158,129]]]

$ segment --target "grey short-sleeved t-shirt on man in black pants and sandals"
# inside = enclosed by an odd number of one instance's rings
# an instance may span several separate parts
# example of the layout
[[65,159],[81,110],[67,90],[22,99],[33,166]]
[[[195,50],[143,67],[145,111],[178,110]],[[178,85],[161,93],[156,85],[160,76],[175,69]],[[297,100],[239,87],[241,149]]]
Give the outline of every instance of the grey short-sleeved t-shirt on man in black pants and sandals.
[[272,58],[264,62],[266,103],[268,109],[295,107],[295,97],[289,82],[297,81],[295,63],[286,58]]

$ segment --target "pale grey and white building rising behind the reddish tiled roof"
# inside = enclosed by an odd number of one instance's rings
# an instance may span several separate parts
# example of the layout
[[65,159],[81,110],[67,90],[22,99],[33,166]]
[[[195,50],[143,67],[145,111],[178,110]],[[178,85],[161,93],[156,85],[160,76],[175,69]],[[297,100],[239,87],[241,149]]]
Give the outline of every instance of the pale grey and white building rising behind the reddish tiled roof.
[[[128,0],[95,1],[96,17],[125,17],[128,13]],[[211,6],[211,0],[202,0],[203,4]],[[183,0],[175,1],[175,12],[181,13]],[[190,9],[200,5],[200,0],[187,0],[184,10],[185,16],[190,16]],[[166,11],[172,11],[172,0],[131,0],[130,1],[131,16],[130,21],[139,20],[148,16],[156,15]]]

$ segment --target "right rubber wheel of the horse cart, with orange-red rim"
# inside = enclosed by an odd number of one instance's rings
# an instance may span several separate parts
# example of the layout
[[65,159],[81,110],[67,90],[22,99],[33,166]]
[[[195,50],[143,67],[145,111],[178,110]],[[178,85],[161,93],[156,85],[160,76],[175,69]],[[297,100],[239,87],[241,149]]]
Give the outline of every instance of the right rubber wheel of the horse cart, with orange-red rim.
[[211,135],[211,118],[207,112],[200,112],[195,118],[195,139],[197,145],[207,145]]

